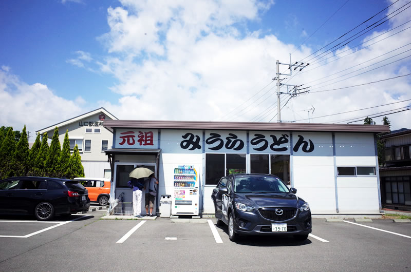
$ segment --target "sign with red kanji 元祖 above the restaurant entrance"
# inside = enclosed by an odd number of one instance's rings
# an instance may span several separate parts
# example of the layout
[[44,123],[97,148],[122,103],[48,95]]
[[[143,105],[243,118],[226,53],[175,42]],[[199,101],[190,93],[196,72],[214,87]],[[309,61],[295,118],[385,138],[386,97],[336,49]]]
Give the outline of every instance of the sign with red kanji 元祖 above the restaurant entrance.
[[150,148],[158,147],[157,129],[116,129],[115,148]]

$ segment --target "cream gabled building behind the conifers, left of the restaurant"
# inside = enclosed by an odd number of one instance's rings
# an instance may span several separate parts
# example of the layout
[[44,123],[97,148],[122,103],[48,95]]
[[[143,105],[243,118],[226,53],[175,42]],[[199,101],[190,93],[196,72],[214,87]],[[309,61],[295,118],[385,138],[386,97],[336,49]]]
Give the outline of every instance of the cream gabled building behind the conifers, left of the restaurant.
[[103,127],[103,122],[107,120],[117,120],[117,118],[102,107],[40,129],[36,133],[43,135],[44,132],[47,132],[47,137],[51,139],[54,128],[58,127],[59,141],[63,145],[64,135],[68,130],[71,151],[76,144],[79,147],[84,175],[86,177],[110,178],[111,170],[105,150],[109,149],[113,143],[113,130]]

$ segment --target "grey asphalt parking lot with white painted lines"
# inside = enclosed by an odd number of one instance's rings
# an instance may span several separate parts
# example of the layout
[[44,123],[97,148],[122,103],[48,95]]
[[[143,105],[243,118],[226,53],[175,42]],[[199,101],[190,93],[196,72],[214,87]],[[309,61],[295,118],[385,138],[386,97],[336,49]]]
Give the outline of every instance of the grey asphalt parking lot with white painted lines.
[[214,218],[100,220],[104,215],[0,218],[0,270],[411,270],[410,223],[313,219],[304,242],[233,243]]

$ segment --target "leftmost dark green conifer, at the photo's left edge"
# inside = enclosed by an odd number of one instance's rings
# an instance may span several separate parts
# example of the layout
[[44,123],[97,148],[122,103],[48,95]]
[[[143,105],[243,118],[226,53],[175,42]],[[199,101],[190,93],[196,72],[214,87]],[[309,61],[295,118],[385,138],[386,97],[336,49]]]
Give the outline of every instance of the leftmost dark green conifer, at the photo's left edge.
[[0,147],[0,178],[5,179],[14,176],[14,152],[16,140],[12,127],[7,130],[6,137]]

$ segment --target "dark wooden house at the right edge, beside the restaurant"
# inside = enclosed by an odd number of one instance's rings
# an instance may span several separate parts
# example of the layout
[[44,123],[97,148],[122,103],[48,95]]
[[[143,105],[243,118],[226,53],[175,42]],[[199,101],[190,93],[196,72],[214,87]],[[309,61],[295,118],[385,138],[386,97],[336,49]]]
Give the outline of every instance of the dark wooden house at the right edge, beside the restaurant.
[[383,135],[380,167],[381,198],[385,208],[411,210],[411,129]]

